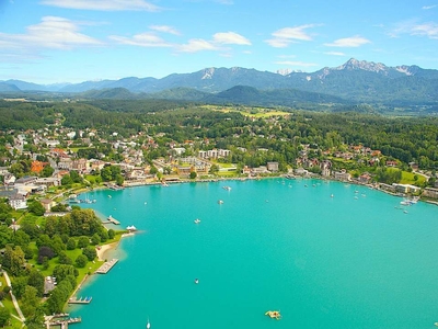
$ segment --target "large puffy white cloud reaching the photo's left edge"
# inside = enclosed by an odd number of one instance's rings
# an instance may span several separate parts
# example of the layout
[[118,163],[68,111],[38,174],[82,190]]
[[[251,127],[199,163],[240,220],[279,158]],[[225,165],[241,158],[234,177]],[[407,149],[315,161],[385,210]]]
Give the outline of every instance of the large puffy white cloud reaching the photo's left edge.
[[39,24],[27,26],[25,34],[0,33],[0,45],[2,50],[20,49],[71,49],[84,46],[102,46],[103,44],[85,34],[79,33],[79,26],[83,23],[76,23],[57,16],[45,16]]

